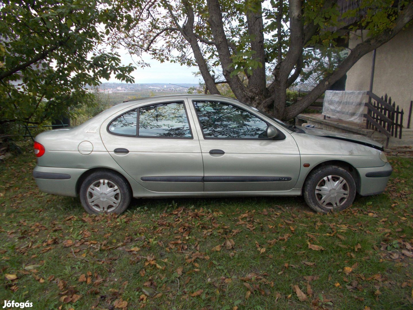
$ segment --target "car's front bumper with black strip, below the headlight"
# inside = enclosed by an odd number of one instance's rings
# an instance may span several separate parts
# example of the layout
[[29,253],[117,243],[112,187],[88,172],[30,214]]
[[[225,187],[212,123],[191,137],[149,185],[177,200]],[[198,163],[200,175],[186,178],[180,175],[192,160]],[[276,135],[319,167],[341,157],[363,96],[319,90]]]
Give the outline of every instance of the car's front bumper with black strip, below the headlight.
[[357,192],[361,196],[375,195],[382,193],[392,174],[392,166],[387,162],[382,167],[357,168],[360,182]]

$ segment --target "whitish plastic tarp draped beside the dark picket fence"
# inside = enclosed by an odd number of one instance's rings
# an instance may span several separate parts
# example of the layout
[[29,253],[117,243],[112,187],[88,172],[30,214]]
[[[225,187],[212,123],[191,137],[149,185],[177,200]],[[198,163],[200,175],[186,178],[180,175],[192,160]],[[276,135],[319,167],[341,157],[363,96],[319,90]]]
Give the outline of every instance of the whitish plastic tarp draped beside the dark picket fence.
[[363,122],[367,91],[325,91],[323,114],[350,122]]

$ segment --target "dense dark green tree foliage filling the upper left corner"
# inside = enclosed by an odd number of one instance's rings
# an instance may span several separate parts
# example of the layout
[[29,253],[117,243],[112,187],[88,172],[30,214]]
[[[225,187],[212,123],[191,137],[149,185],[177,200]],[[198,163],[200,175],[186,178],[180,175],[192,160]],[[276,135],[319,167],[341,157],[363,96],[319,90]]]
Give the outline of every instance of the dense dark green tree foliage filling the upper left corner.
[[104,0],[2,1],[0,125],[59,117],[111,74],[133,82],[134,67],[100,47],[114,15]]

